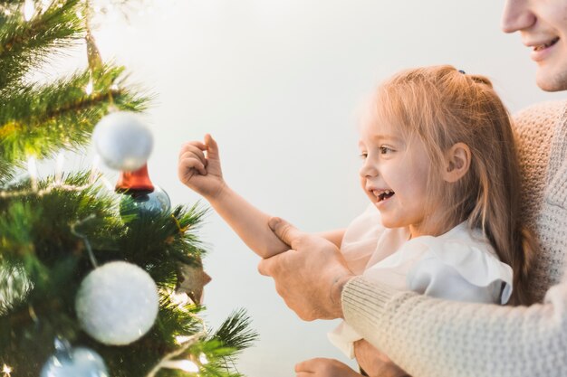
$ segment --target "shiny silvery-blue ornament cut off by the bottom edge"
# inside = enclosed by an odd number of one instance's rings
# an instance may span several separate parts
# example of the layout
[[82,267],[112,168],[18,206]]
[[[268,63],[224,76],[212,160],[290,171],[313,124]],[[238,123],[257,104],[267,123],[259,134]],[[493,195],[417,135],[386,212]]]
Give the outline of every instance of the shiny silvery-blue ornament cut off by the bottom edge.
[[67,341],[55,341],[55,354],[43,364],[40,377],[109,377],[99,353],[90,348],[72,348]]

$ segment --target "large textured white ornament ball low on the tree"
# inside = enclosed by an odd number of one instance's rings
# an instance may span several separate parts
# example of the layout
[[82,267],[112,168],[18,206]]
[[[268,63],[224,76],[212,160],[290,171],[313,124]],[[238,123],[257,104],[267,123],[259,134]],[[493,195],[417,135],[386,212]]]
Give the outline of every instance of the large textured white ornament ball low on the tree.
[[158,288],[148,272],[124,261],[94,269],[75,298],[82,329],[103,344],[130,344],[156,321]]

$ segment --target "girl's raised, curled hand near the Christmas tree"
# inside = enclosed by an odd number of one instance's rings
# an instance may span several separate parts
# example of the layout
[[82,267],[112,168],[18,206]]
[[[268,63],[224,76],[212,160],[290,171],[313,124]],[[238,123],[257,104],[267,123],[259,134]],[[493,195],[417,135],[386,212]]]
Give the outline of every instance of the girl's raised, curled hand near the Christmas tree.
[[218,146],[213,137],[207,134],[205,143],[190,141],[181,147],[178,176],[183,184],[207,200],[218,197],[226,184],[220,168]]

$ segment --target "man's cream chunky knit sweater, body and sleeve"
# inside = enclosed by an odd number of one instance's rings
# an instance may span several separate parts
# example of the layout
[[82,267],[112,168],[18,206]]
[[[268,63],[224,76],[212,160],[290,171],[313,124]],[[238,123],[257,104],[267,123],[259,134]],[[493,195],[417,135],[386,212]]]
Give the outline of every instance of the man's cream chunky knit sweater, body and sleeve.
[[567,106],[515,118],[524,218],[541,254],[533,295],[542,304],[443,301],[353,278],[342,291],[346,321],[414,377],[567,376]]

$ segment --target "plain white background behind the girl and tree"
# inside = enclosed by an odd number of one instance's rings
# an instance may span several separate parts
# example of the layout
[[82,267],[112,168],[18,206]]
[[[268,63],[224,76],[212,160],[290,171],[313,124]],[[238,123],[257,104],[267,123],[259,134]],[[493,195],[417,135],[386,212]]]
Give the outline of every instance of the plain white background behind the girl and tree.
[[[304,231],[345,227],[366,204],[358,186],[356,109],[402,68],[449,63],[490,77],[512,112],[561,99],[534,84],[517,34],[499,29],[504,1],[155,0],[130,24],[96,31],[105,60],[158,93],[149,173],[174,204],[179,146],[216,137],[226,181]],[[82,62],[84,63],[84,62]],[[110,174],[112,178],[112,175]],[[250,377],[293,376],[312,357],[345,361],[326,339],[334,322],[305,323],[277,297],[259,260],[214,212],[200,231],[210,253],[207,321],[245,307],[261,340],[238,362]],[[313,271],[316,274],[317,271]]]

